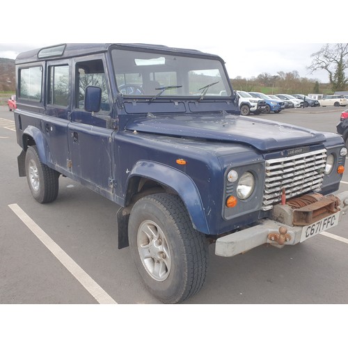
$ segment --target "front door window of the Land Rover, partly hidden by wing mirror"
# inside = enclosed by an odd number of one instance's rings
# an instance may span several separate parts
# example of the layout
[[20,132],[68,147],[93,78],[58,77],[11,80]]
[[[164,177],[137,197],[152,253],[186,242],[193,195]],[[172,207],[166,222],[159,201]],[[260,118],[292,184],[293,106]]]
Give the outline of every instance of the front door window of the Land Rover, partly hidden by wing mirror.
[[102,89],[102,111],[110,111],[110,99],[106,84],[104,65],[101,59],[84,61],[76,64],[76,86],[78,109],[84,109],[86,88],[96,86]]

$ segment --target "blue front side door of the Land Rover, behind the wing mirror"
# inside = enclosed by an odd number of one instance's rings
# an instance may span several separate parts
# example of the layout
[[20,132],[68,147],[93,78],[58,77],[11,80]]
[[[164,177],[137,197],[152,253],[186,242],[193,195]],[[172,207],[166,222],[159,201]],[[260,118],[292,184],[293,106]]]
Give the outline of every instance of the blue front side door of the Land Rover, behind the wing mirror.
[[[74,60],[74,104],[68,126],[70,170],[91,189],[109,196],[111,188],[111,100],[104,56]],[[87,86],[102,89],[99,113],[84,109]]]

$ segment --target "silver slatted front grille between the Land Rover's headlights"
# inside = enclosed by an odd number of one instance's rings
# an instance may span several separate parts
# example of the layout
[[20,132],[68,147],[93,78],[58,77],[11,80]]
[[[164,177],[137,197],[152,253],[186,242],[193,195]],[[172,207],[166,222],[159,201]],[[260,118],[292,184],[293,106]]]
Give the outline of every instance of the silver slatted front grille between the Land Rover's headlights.
[[267,159],[262,210],[279,203],[283,189],[286,198],[309,191],[320,191],[326,166],[326,150]]

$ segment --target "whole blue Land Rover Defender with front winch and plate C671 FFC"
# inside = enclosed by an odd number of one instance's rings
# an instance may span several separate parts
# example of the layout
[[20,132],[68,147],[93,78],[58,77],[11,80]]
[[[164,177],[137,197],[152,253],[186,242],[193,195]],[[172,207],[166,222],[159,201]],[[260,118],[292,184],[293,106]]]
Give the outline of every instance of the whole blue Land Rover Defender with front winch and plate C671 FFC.
[[19,54],[16,74],[19,175],[33,197],[55,200],[63,175],[116,203],[118,248],[164,303],[201,289],[209,244],[221,256],[297,244],[347,209],[347,191],[329,194],[342,138],[240,116],[219,56],[64,44]]

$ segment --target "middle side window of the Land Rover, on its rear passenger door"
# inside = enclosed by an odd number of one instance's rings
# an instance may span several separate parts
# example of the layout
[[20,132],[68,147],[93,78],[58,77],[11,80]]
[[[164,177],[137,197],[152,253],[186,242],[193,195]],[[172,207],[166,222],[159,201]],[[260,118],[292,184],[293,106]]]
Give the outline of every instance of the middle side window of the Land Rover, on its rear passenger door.
[[47,104],[68,106],[69,103],[69,66],[52,65],[49,67]]

